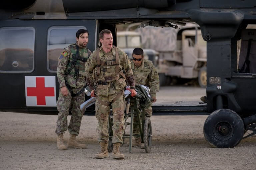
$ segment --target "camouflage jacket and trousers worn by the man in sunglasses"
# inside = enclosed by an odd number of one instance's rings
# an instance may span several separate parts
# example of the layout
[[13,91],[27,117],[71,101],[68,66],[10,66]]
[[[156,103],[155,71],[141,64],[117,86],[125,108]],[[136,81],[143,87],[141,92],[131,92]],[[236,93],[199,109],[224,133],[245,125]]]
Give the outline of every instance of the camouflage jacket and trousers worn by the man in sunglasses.
[[[150,60],[143,59],[139,68],[137,68],[133,61],[131,62],[132,71],[134,75],[134,80],[136,84],[145,85],[150,88],[150,96],[156,98],[156,93],[159,91],[159,76]],[[150,103],[146,108],[146,115],[152,116],[152,103]],[[137,117],[134,117],[134,122],[137,122]],[[133,126],[133,133],[140,134],[139,125]],[[136,138],[136,141],[140,141],[140,137]]]

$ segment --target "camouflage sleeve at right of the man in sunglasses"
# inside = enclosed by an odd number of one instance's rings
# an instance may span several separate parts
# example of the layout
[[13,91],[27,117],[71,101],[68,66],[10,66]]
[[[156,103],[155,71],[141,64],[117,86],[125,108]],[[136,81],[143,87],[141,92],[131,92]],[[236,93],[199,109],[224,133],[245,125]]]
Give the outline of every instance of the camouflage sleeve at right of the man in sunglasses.
[[151,97],[156,98],[156,93],[159,91],[159,76],[154,66],[149,74],[149,87]]

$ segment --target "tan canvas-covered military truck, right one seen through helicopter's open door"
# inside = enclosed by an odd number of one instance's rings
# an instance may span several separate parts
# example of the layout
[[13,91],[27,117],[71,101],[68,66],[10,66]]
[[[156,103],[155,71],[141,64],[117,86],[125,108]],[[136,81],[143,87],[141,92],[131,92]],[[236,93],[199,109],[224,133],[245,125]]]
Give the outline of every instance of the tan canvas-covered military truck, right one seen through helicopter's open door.
[[158,73],[160,86],[198,79],[206,87],[206,42],[196,24],[187,24],[179,29],[146,26],[138,28],[145,48],[159,52]]

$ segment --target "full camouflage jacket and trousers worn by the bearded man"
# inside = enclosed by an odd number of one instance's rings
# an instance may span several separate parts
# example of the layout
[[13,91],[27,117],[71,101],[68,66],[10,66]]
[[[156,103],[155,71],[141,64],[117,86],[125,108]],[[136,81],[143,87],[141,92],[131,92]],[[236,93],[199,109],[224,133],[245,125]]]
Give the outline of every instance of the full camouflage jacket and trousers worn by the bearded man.
[[[85,58],[85,62],[91,54],[91,51],[87,47],[79,46],[79,55]],[[65,133],[69,130],[70,134],[78,135],[81,125],[83,113],[80,111],[80,104],[85,100],[85,94],[82,92],[78,96],[71,96],[68,89],[68,95],[63,96],[61,93],[61,87],[70,86],[73,94],[77,94],[86,85],[85,82],[85,62],[77,60],[75,67],[69,72],[69,68],[72,65],[72,55],[76,55],[77,48],[75,44],[72,44],[64,49],[59,57],[57,77],[60,84],[59,98],[57,101],[57,109],[59,111],[57,128],[55,133],[57,135]],[[79,70],[79,72],[78,72]],[[78,72],[78,74],[77,74]],[[68,85],[65,85],[65,79]],[[69,114],[69,108],[71,108],[71,120],[68,126],[67,116]],[[68,126],[68,127],[67,127]]]

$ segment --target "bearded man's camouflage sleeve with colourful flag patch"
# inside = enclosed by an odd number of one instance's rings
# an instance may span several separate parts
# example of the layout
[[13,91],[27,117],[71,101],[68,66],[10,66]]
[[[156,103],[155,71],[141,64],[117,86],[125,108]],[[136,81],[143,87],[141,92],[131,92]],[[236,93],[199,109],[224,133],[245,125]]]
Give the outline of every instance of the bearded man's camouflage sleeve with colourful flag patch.
[[60,84],[60,88],[66,86],[65,85],[65,70],[67,68],[70,50],[68,48],[66,48],[65,51],[68,53],[68,55],[59,59],[58,67],[57,67],[57,77],[58,77],[58,81]]

